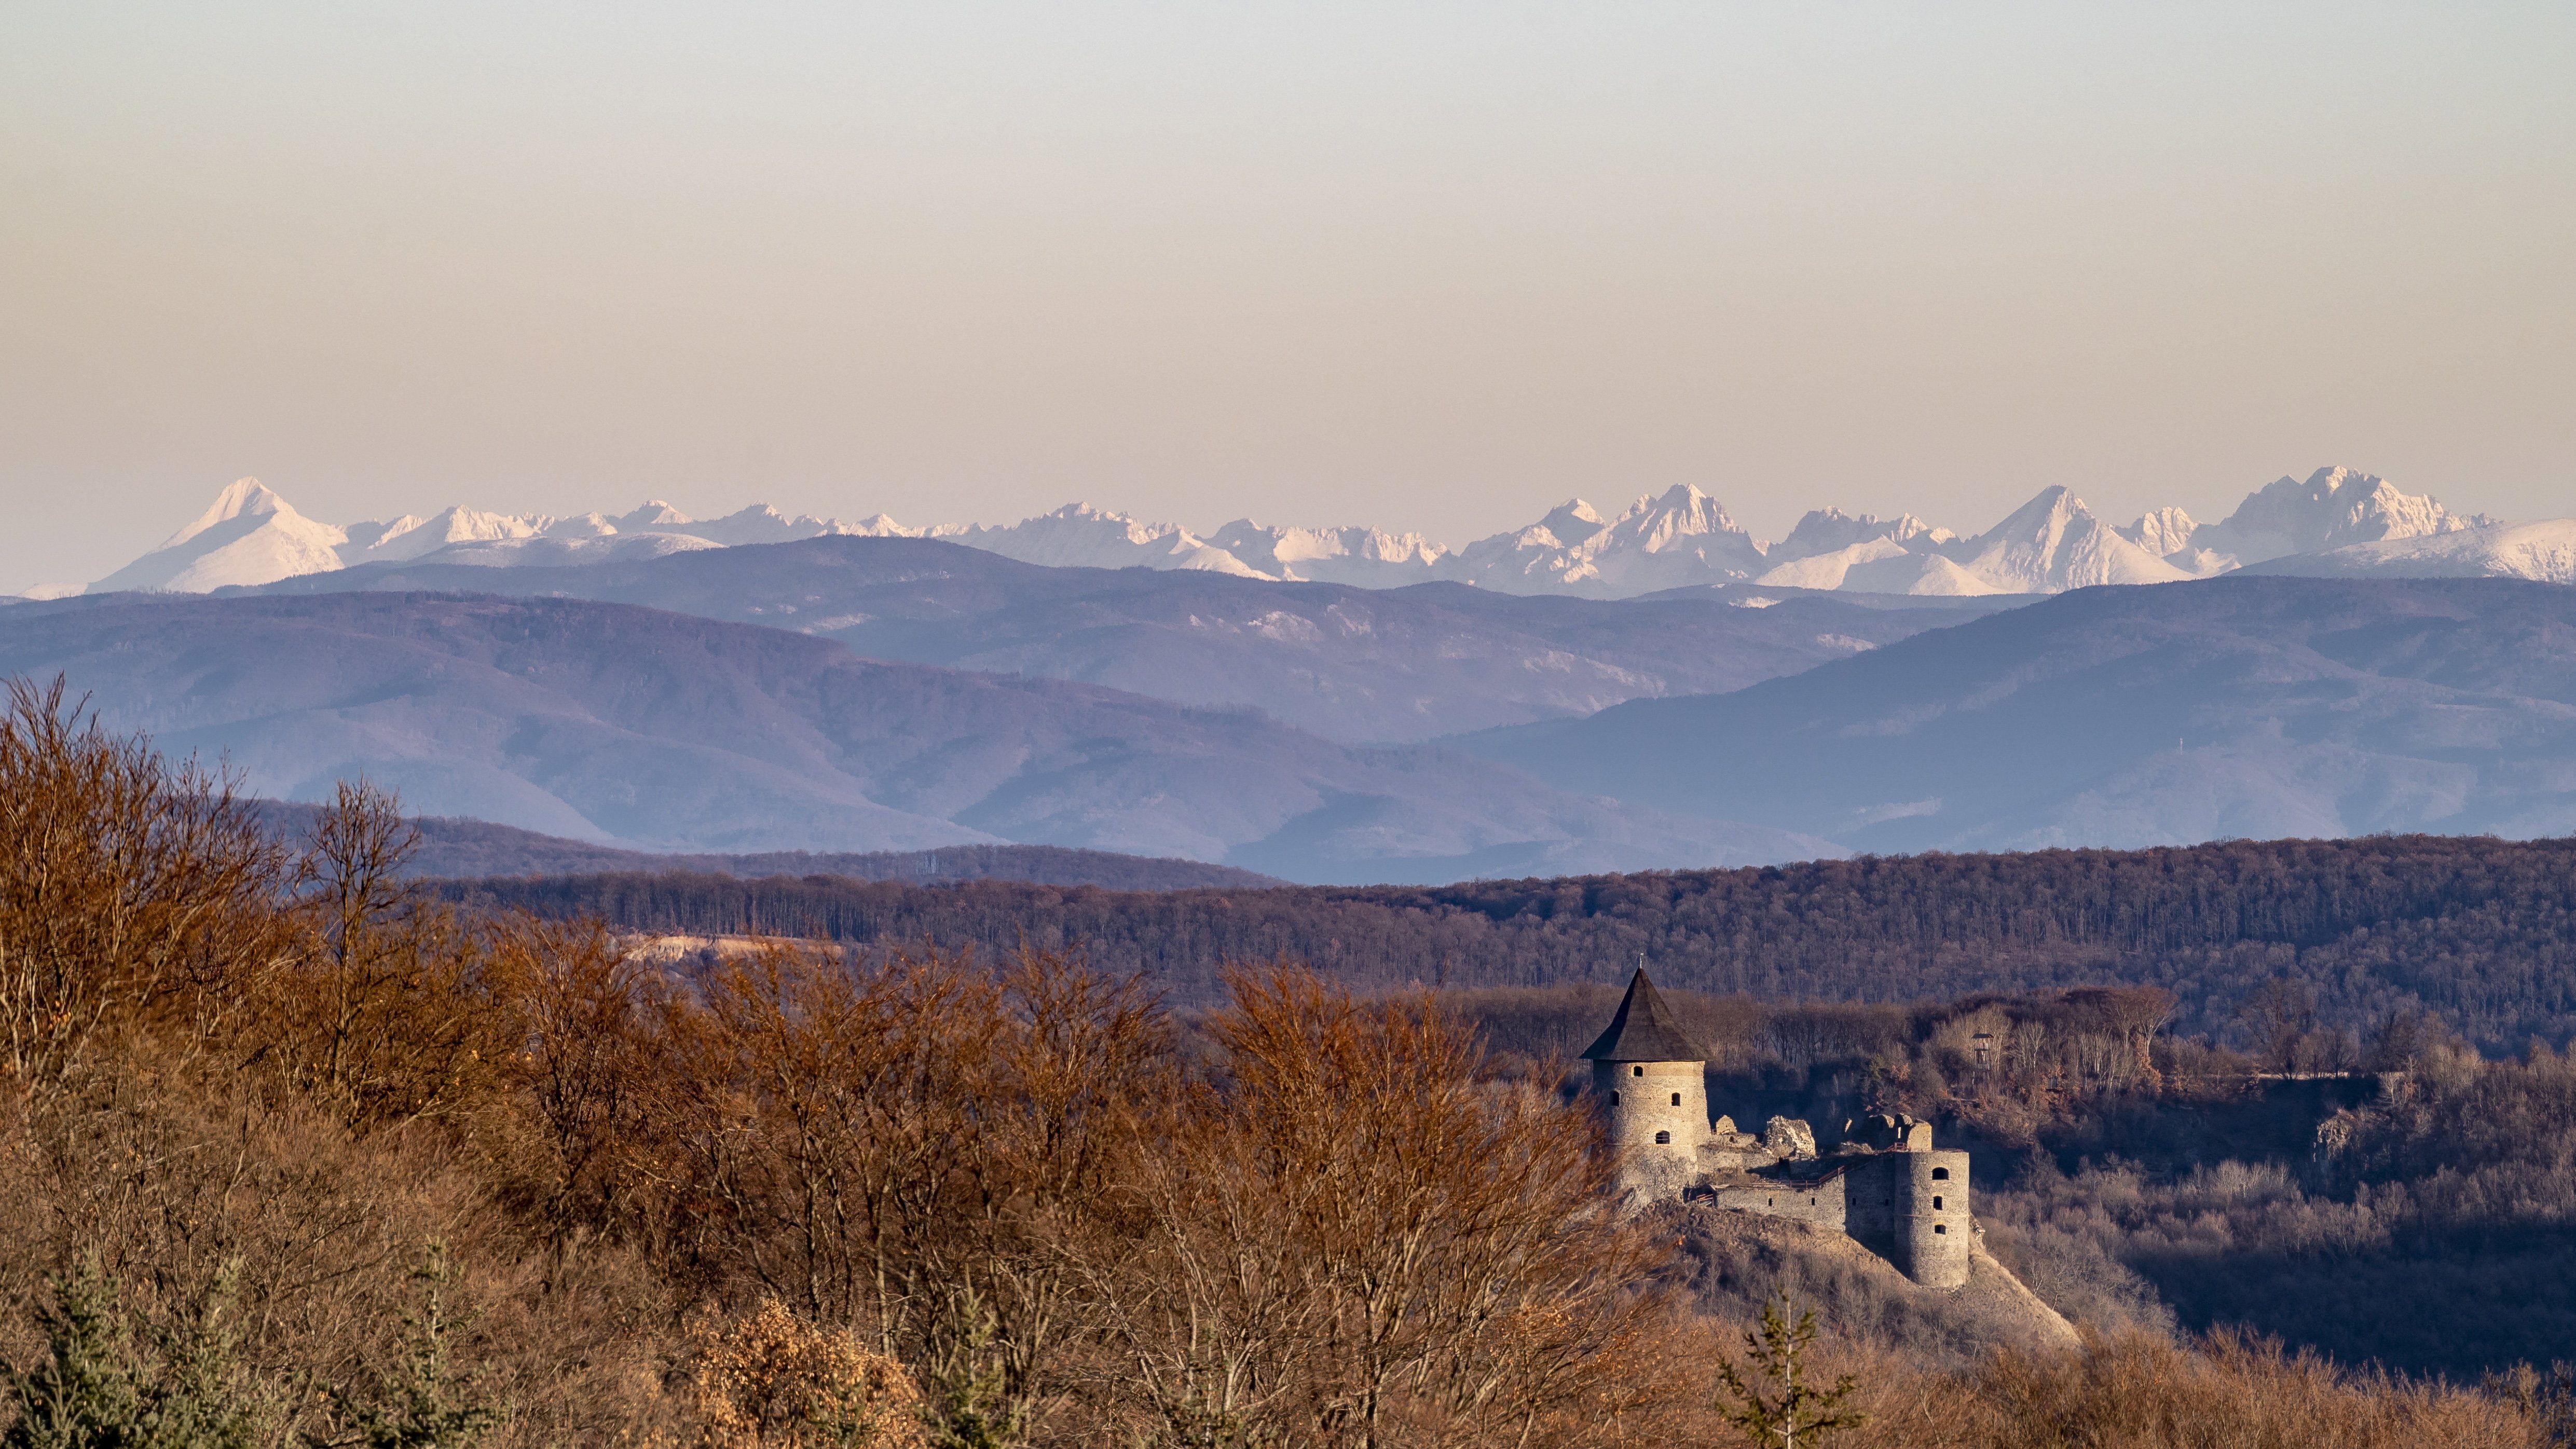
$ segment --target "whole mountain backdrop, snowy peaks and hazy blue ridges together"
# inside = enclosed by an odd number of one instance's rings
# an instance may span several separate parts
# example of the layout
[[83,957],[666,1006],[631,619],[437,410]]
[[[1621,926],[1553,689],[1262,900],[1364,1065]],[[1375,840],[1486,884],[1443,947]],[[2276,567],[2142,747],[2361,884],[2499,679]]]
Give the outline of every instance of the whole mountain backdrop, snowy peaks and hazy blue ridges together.
[[368,776],[590,848],[1445,882],[2576,830],[2576,590],[2527,580],[2576,580],[2576,521],[2349,469],[2218,523],[2050,487],[1777,544],[1672,490],[1458,552],[1084,508],[325,526],[245,480],[103,580],[142,593],[10,603],[0,673],[260,794]]

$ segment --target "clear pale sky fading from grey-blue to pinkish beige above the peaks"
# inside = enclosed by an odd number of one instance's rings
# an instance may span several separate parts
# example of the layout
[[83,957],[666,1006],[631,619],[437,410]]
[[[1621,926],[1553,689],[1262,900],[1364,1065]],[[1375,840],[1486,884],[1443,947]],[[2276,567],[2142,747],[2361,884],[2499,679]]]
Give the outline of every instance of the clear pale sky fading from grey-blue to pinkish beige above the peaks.
[[0,0],[0,588],[258,474],[2576,513],[2576,5]]

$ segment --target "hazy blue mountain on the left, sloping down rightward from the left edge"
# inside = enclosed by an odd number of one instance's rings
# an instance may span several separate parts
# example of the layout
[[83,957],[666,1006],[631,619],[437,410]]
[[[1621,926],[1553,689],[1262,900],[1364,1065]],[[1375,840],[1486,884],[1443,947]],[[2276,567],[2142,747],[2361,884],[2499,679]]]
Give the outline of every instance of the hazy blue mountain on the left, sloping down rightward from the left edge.
[[420,815],[654,851],[1043,843],[1306,882],[1747,864],[1824,841],[1553,792],[1450,750],[1252,712],[878,663],[832,639],[572,598],[332,593],[18,603],[0,676],[252,794],[368,776]]

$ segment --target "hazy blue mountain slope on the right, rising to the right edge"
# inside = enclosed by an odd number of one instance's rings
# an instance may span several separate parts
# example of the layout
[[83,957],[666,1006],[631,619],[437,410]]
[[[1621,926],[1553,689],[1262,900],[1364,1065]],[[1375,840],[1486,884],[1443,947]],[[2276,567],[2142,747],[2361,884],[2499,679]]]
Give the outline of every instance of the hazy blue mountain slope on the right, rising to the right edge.
[[2092,588],[1734,694],[1453,740],[1855,851],[2576,830],[2576,590]]

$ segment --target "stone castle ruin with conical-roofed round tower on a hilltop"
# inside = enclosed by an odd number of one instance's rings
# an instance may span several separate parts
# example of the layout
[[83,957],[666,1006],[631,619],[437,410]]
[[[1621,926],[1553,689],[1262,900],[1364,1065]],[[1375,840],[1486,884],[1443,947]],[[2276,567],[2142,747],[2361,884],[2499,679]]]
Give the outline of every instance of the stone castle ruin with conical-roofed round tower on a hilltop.
[[1819,1152],[1806,1122],[1772,1116],[1757,1137],[1736,1132],[1731,1116],[1710,1119],[1708,1052],[1643,969],[1584,1060],[1625,1201],[1687,1199],[1790,1217],[1850,1235],[1917,1284],[1968,1284],[1968,1152],[1935,1150],[1932,1124],[1868,1116]]

